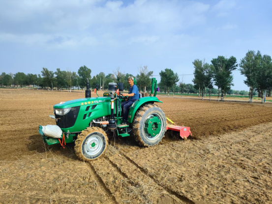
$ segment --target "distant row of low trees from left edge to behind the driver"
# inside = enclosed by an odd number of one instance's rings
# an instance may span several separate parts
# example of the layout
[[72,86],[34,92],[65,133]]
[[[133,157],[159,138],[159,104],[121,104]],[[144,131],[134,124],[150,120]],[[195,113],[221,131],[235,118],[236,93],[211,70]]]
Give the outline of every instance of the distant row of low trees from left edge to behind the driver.
[[[138,74],[134,76],[137,81],[139,90],[148,91],[151,89],[151,76],[153,71],[149,71],[147,66],[140,66],[138,68]],[[100,90],[108,89],[109,83],[122,82],[124,89],[128,90],[127,78],[133,76],[129,73],[122,73],[120,67],[118,67],[113,73],[106,75],[104,72],[91,77],[91,69],[87,66],[81,66],[78,72],[72,72],[68,69],[61,71],[57,68],[57,71],[51,71],[45,67],[42,68],[41,74],[25,74],[23,72],[17,72],[16,74],[6,74],[2,72],[0,75],[1,87],[41,87],[53,90],[68,89],[68,91],[74,90],[74,88],[83,89],[86,87],[87,79],[90,82],[90,87],[94,89],[96,84]]]

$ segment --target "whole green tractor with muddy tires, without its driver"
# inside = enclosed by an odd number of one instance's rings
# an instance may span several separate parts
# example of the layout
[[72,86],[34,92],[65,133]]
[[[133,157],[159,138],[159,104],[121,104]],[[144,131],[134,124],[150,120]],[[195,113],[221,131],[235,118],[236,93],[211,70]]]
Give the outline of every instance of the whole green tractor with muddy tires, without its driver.
[[[159,90],[156,79],[151,79],[150,96],[140,96],[130,107],[128,125],[121,124],[121,103],[125,100],[122,90],[122,83],[110,83],[103,97],[97,93],[98,97],[91,97],[88,80],[85,98],[60,102],[54,106],[54,115],[50,117],[56,120],[57,128],[60,129],[56,137],[45,134],[46,126],[39,126],[43,141],[48,145],[62,146],[74,142],[75,153],[83,161],[97,159],[104,153],[108,146],[107,132],[115,132],[119,137],[132,135],[140,146],[157,145],[171,125],[167,124],[163,110],[155,104],[162,103],[156,97]],[[188,127],[177,127],[179,129],[175,130],[175,125],[172,125],[171,130],[181,132],[182,128],[185,138],[190,135]]]

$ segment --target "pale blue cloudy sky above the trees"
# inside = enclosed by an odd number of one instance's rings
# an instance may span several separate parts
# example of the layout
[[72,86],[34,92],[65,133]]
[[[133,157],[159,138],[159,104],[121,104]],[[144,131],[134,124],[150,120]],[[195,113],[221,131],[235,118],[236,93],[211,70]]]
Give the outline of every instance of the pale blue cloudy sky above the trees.
[[[194,59],[272,56],[272,0],[1,0],[0,73],[193,74]],[[157,75],[157,76],[156,76]],[[247,90],[234,71],[235,90]],[[181,81],[182,76],[180,76]],[[183,76],[192,84],[193,75]]]

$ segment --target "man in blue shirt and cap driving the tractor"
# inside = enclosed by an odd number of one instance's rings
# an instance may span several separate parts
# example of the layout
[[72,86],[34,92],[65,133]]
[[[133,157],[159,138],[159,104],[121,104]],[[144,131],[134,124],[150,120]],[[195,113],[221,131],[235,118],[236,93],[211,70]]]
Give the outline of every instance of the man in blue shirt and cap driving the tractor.
[[123,110],[123,122],[122,125],[127,124],[127,116],[130,106],[133,104],[134,101],[139,99],[139,91],[138,87],[134,84],[134,78],[128,77],[127,83],[129,84],[129,92],[123,93],[123,96],[127,96],[128,98],[125,99],[125,102],[121,104],[121,108]]

